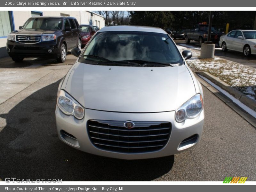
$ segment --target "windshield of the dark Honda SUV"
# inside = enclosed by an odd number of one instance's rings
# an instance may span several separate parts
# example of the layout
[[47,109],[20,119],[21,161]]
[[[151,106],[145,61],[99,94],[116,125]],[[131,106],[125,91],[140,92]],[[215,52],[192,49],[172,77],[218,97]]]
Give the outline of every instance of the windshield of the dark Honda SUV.
[[30,18],[23,29],[58,30],[62,28],[62,19],[58,18]]

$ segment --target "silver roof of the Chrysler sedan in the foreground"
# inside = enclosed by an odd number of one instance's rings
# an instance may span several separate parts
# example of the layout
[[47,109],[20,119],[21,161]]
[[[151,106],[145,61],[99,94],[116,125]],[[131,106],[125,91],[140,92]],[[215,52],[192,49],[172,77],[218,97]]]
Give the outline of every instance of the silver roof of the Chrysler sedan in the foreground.
[[128,26],[128,25],[117,25],[101,28],[98,32],[108,31],[140,31],[140,32],[152,32],[152,33],[163,33],[166,32],[161,28],[146,27],[146,26]]

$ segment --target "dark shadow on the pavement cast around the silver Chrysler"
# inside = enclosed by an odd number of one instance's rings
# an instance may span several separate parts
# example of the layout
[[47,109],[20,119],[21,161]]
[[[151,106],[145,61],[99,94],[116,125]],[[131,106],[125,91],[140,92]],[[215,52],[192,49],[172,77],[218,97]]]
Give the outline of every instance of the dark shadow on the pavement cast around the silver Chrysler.
[[55,124],[60,81],[18,103],[0,132],[0,178],[62,181],[148,181],[172,169],[174,156],[120,160],[91,155],[61,142]]

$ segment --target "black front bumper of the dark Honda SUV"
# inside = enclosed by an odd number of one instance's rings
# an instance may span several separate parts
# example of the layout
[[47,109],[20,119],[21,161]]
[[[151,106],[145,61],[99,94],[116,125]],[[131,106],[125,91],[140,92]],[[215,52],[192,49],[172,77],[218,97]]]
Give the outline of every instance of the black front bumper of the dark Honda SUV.
[[[6,49],[8,48],[10,57],[58,58],[60,55],[60,49],[55,41],[26,44],[7,40]],[[51,53],[48,52],[49,49],[52,49]]]

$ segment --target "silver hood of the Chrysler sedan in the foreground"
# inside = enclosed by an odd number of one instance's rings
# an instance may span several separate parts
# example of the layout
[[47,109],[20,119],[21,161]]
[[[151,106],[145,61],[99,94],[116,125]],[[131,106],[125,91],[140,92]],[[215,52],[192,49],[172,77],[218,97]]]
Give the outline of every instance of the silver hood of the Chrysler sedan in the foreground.
[[136,113],[173,111],[196,94],[185,65],[151,68],[78,62],[65,90],[85,108]]

